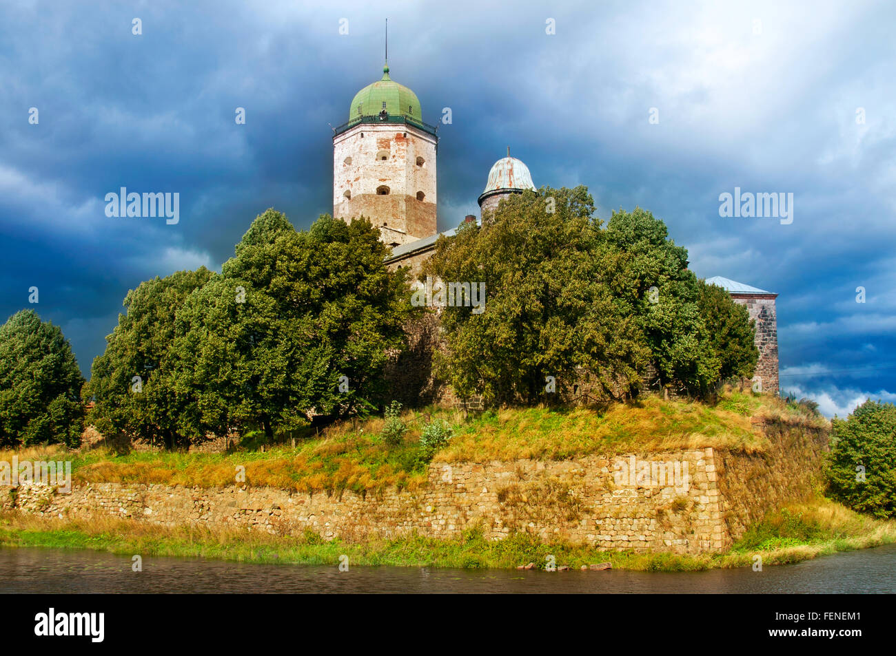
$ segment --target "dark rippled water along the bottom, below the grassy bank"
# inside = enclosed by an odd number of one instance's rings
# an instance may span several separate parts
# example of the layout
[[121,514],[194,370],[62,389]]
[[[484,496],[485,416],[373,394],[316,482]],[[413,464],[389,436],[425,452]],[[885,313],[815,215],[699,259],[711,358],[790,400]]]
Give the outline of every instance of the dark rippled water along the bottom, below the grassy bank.
[[0,593],[85,592],[896,592],[896,545],[796,565],[708,572],[542,572],[430,567],[254,565],[90,550],[0,549]]

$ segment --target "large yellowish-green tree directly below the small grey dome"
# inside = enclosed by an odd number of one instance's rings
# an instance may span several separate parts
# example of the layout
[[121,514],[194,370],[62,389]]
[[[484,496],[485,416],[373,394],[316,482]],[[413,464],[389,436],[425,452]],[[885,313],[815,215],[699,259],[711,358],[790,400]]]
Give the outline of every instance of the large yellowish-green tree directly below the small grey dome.
[[484,311],[446,307],[436,363],[461,396],[536,403],[547,377],[565,392],[590,379],[605,396],[636,388],[648,350],[620,293],[625,258],[607,243],[585,187],[503,200],[483,226],[440,239],[427,273],[484,283]]

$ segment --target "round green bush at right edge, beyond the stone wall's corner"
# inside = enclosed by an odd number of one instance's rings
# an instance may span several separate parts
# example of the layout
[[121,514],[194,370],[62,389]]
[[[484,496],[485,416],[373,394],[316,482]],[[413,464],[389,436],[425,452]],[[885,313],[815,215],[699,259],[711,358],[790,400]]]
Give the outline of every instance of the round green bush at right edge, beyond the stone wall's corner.
[[869,399],[846,420],[835,417],[825,475],[831,498],[860,513],[896,517],[896,405]]

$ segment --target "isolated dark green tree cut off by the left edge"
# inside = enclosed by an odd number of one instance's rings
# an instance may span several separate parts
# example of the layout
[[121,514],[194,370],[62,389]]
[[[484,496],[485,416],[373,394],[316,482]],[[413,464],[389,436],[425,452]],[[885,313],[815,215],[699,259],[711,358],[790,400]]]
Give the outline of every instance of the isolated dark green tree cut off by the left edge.
[[0,444],[81,442],[84,379],[62,330],[22,310],[0,327]]

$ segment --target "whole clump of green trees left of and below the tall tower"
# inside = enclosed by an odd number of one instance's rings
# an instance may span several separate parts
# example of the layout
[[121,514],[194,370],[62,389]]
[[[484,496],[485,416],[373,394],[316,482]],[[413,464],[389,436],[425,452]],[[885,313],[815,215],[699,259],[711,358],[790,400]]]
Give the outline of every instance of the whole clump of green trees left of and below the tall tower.
[[378,236],[329,216],[297,232],[269,209],[220,275],[142,283],[93,362],[90,421],[171,448],[231,430],[270,443],[313,416],[369,412],[408,307]]

